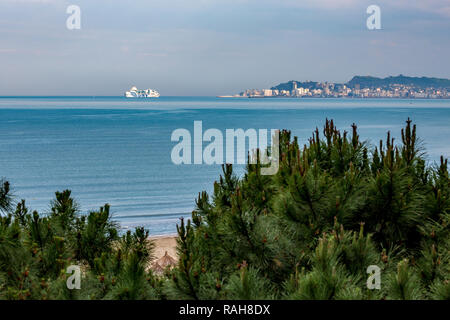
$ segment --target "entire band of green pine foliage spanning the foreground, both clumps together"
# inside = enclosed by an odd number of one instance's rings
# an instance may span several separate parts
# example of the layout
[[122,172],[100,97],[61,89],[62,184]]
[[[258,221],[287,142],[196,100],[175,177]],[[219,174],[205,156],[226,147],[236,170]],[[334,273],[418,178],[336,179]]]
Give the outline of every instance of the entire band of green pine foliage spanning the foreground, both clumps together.
[[[231,165],[178,226],[177,265],[149,270],[148,231],[120,234],[105,205],[68,190],[47,215],[13,209],[0,183],[0,299],[450,299],[447,160],[429,166],[416,127],[371,148],[326,121],[304,146],[282,131],[279,170]],[[66,269],[78,265],[80,290]],[[367,288],[367,268],[381,290]]]

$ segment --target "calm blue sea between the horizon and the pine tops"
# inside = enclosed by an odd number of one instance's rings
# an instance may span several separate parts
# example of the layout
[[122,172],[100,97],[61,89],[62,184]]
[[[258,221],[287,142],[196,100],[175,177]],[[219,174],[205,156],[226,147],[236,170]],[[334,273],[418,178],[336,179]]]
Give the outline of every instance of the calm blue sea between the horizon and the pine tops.
[[347,131],[356,123],[375,145],[387,131],[400,140],[408,117],[430,165],[450,156],[450,100],[2,97],[0,177],[32,210],[48,212],[54,192],[70,189],[83,213],[109,203],[124,230],[173,234],[221,173],[220,165],[173,164],[175,129],[193,135],[194,121],[204,131],[289,129],[303,144],[328,118]]

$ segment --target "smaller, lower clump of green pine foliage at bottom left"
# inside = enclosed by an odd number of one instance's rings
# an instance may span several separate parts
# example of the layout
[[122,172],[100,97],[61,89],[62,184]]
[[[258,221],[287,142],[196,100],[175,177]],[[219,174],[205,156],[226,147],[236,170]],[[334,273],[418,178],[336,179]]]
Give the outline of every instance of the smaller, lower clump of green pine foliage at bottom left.
[[[0,299],[155,299],[162,284],[147,266],[154,244],[136,228],[119,237],[109,205],[87,216],[70,191],[57,192],[51,212],[29,213],[25,201],[0,216]],[[66,268],[82,270],[69,290]]]

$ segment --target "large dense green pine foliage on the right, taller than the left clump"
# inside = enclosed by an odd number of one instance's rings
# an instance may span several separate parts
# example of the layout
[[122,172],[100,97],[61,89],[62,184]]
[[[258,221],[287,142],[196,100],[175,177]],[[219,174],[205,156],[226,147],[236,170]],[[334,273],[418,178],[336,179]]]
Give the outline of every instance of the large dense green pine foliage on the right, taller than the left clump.
[[[199,194],[192,224],[178,229],[168,296],[445,299],[447,162],[426,166],[411,120],[401,135],[400,145],[388,133],[371,149],[356,125],[349,135],[327,120],[323,138],[316,129],[303,147],[281,132],[273,176],[259,163],[242,179],[224,166],[213,194]],[[370,265],[381,290],[367,288]]]

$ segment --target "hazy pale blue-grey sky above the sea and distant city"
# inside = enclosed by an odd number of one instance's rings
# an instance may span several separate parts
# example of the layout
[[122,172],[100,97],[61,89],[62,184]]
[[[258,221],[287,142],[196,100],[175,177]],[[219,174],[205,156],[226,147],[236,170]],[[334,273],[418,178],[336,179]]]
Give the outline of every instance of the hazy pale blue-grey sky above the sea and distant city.
[[[69,5],[81,29],[69,30]],[[381,29],[368,30],[369,5]],[[450,0],[0,0],[0,96],[450,78]]]

